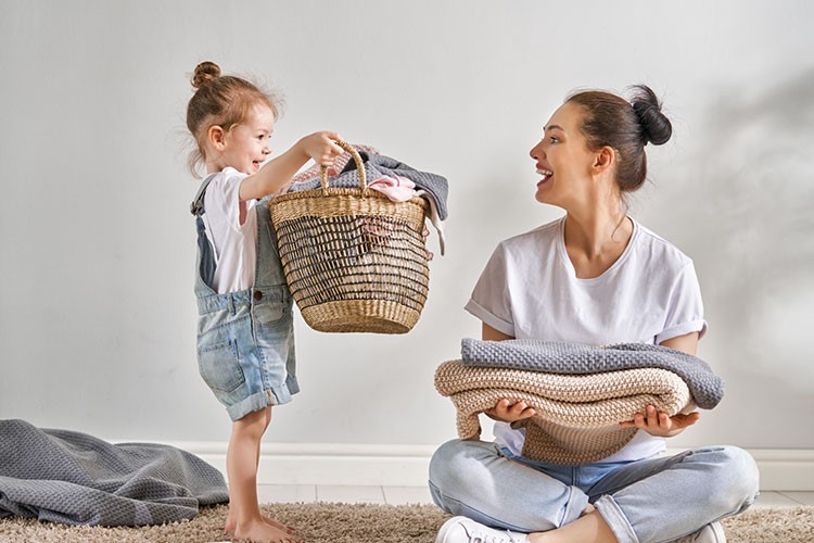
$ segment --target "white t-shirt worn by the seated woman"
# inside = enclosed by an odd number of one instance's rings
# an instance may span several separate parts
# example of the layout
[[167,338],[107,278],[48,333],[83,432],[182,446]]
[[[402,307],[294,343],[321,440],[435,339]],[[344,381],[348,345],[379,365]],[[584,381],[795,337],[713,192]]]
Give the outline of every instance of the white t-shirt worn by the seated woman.
[[[503,241],[484,268],[466,310],[517,339],[602,345],[659,344],[703,334],[701,289],[692,261],[633,220],[619,260],[599,277],[576,277],[565,252],[565,217]],[[496,422],[497,441],[520,454],[524,433]],[[601,462],[640,459],[665,449],[663,438],[636,432]]]

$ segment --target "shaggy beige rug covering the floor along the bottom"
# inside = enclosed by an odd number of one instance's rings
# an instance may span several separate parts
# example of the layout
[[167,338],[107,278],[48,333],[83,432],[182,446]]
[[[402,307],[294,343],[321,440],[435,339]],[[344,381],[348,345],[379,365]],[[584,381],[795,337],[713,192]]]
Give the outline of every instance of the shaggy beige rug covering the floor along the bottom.
[[[449,516],[433,505],[275,504],[264,513],[297,527],[308,543],[432,543]],[[147,528],[64,527],[0,520],[2,543],[208,543],[230,541],[227,506],[202,509],[191,521]],[[723,521],[732,543],[814,542],[814,507],[752,509]]]

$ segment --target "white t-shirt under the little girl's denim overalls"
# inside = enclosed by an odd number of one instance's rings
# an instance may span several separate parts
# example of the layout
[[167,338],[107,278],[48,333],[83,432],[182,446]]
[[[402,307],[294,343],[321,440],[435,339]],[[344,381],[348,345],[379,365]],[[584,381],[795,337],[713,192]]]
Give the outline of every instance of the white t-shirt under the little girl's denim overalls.
[[232,167],[215,175],[204,195],[206,235],[215,248],[213,289],[224,294],[254,285],[257,263],[256,200],[246,201],[246,216],[240,223],[240,184],[247,176]]

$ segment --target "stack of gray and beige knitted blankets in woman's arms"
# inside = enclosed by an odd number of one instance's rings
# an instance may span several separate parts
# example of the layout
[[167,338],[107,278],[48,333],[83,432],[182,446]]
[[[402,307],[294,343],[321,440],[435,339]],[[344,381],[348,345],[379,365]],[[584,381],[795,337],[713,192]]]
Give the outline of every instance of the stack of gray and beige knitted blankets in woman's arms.
[[525,429],[523,456],[564,465],[596,462],[633,439],[637,429],[619,422],[647,405],[675,415],[695,409],[696,393],[707,408],[723,395],[721,379],[702,361],[638,346],[463,340],[465,359],[438,366],[435,388],[456,406],[461,439],[480,437],[479,414],[506,397],[536,411],[512,425]]

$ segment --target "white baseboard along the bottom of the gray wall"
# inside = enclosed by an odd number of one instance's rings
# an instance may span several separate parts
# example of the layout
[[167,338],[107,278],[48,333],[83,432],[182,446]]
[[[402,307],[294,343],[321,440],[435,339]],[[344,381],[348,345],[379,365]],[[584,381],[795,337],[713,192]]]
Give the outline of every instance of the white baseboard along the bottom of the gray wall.
[[[227,443],[166,442],[226,473]],[[269,443],[263,445],[260,484],[421,487],[436,445]],[[679,450],[670,450],[676,453]],[[814,450],[748,450],[763,491],[814,491]]]

